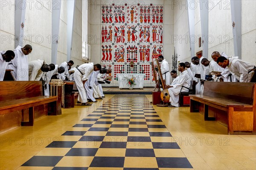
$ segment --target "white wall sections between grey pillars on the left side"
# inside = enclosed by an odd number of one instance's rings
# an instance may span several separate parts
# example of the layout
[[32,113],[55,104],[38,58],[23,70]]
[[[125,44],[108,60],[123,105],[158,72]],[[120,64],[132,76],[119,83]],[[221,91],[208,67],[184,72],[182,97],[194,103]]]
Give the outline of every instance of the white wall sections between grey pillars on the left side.
[[[3,3],[4,2],[4,3]],[[7,4],[6,4],[7,3]],[[42,4],[41,4],[42,3]],[[75,64],[82,64],[81,61],[81,0],[75,1],[73,43],[71,59]],[[14,50],[15,41],[15,0],[0,2],[0,51]],[[32,45],[32,54],[29,54],[29,61],[44,59],[51,63],[52,54],[52,8],[58,4],[51,5],[51,0],[30,0],[26,3],[24,21],[23,46]],[[8,38],[7,40],[6,37]],[[54,40],[54,39],[53,39]],[[67,1],[61,1],[61,17],[59,26],[57,63],[67,60]]]

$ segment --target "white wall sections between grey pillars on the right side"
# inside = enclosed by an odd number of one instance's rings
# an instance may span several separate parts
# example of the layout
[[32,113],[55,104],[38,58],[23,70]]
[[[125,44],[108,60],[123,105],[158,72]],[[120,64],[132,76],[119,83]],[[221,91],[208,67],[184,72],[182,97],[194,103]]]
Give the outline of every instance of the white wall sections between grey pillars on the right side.
[[[210,0],[209,0],[210,1]],[[195,45],[195,54],[202,50],[198,46],[198,38],[201,35],[201,17],[200,6],[195,1],[195,36],[197,41]],[[175,4],[175,35],[189,35],[188,14],[185,6],[186,0],[179,1],[179,5]],[[256,1],[241,1],[241,30],[242,44],[241,59],[256,65]],[[231,19],[230,0],[211,0],[209,2],[209,47],[208,59],[211,59],[213,51],[225,52],[227,55],[234,55],[233,27]],[[183,25],[183,26],[182,26]],[[175,41],[175,47],[180,62],[190,61],[190,45],[185,41]]]

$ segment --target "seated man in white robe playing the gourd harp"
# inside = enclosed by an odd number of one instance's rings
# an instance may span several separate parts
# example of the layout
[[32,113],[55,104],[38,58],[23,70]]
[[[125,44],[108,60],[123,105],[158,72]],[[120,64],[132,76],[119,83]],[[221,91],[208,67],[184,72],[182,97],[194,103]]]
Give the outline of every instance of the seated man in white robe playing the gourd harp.
[[[170,103],[168,107],[179,107],[179,94],[182,86],[189,88],[190,87],[190,77],[187,70],[185,70],[186,65],[181,62],[178,65],[178,71],[180,71],[180,75],[175,78],[175,84],[167,85],[168,92],[170,94]],[[189,90],[186,88],[182,88],[182,92],[188,92]]]

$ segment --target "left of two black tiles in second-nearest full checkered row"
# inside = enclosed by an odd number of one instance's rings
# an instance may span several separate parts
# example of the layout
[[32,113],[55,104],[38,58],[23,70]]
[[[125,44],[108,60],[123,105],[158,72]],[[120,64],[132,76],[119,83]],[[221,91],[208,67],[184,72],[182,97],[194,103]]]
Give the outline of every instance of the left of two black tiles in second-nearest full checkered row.
[[65,156],[95,156],[98,148],[71,148]]

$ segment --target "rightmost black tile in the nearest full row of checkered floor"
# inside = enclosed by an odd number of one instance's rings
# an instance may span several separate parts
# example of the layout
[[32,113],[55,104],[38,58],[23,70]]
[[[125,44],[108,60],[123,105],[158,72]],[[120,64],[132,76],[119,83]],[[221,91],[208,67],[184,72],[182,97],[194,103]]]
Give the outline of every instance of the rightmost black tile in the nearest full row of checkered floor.
[[193,168],[187,158],[157,158],[158,167]]

